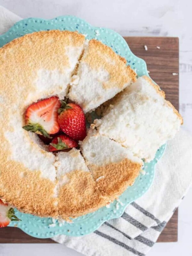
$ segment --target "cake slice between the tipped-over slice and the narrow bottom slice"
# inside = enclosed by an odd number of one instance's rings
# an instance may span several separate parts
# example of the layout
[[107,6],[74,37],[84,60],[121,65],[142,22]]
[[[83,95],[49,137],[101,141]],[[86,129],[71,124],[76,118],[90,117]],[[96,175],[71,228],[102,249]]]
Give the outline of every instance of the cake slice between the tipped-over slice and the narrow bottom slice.
[[111,201],[134,183],[143,164],[127,148],[95,131],[87,135],[81,148],[101,194]]

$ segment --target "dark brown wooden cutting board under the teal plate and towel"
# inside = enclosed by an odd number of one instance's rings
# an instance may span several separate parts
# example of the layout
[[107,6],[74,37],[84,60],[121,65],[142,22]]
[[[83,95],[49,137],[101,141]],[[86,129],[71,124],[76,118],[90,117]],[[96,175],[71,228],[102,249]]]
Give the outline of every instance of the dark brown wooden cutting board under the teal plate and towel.
[[[132,52],[147,63],[149,75],[165,91],[166,99],[179,108],[179,38],[176,37],[125,37]],[[147,45],[146,51],[144,45]],[[159,46],[158,49],[156,46]],[[176,242],[178,210],[167,223],[158,242]],[[0,228],[0,243],[54,243],[51,239],[37,239],[19,228]]]

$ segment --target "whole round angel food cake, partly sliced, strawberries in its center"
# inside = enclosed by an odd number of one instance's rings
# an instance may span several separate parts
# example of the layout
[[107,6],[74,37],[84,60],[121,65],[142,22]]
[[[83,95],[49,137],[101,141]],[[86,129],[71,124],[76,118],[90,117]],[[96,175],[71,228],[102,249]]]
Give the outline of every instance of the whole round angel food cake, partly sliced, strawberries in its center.
[[[0,199],[42,217],[75,218],[113,201],[134,183],[141,158],[152,159],[182,122],[157,86],[136,81],[124,58],[77,32],[35,32],[6,44],[0,87]],[[117,93],[113,111],[88,132],[84,114]],[[155,130],[147,142],[149,108]]]

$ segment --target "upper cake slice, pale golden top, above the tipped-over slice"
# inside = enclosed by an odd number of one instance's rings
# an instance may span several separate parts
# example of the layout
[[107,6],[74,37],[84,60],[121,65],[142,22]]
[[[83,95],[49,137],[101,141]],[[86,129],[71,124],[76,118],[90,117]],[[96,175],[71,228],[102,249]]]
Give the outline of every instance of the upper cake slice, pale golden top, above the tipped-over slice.
[[132,81],[135,72],[105,44],[90,40],[84,47],[68,97],[88,112],[113,98]]

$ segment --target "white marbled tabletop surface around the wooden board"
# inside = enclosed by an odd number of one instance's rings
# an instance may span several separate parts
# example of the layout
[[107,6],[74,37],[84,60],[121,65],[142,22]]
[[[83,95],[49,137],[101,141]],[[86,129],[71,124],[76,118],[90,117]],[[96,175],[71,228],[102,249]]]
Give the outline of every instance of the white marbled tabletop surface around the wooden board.
[[[180,113],[192,132],[192,1],[189,0],[0,0],[22,18],[76,15],[122,36],[178,36],[180,38]],[[179,208],[177,243],[157,243],[148,256],[192,255],[192,189]],[[60,244],[0,244],[0,256],[79,254]],[[118,253],[117,253],[118,255]]]

